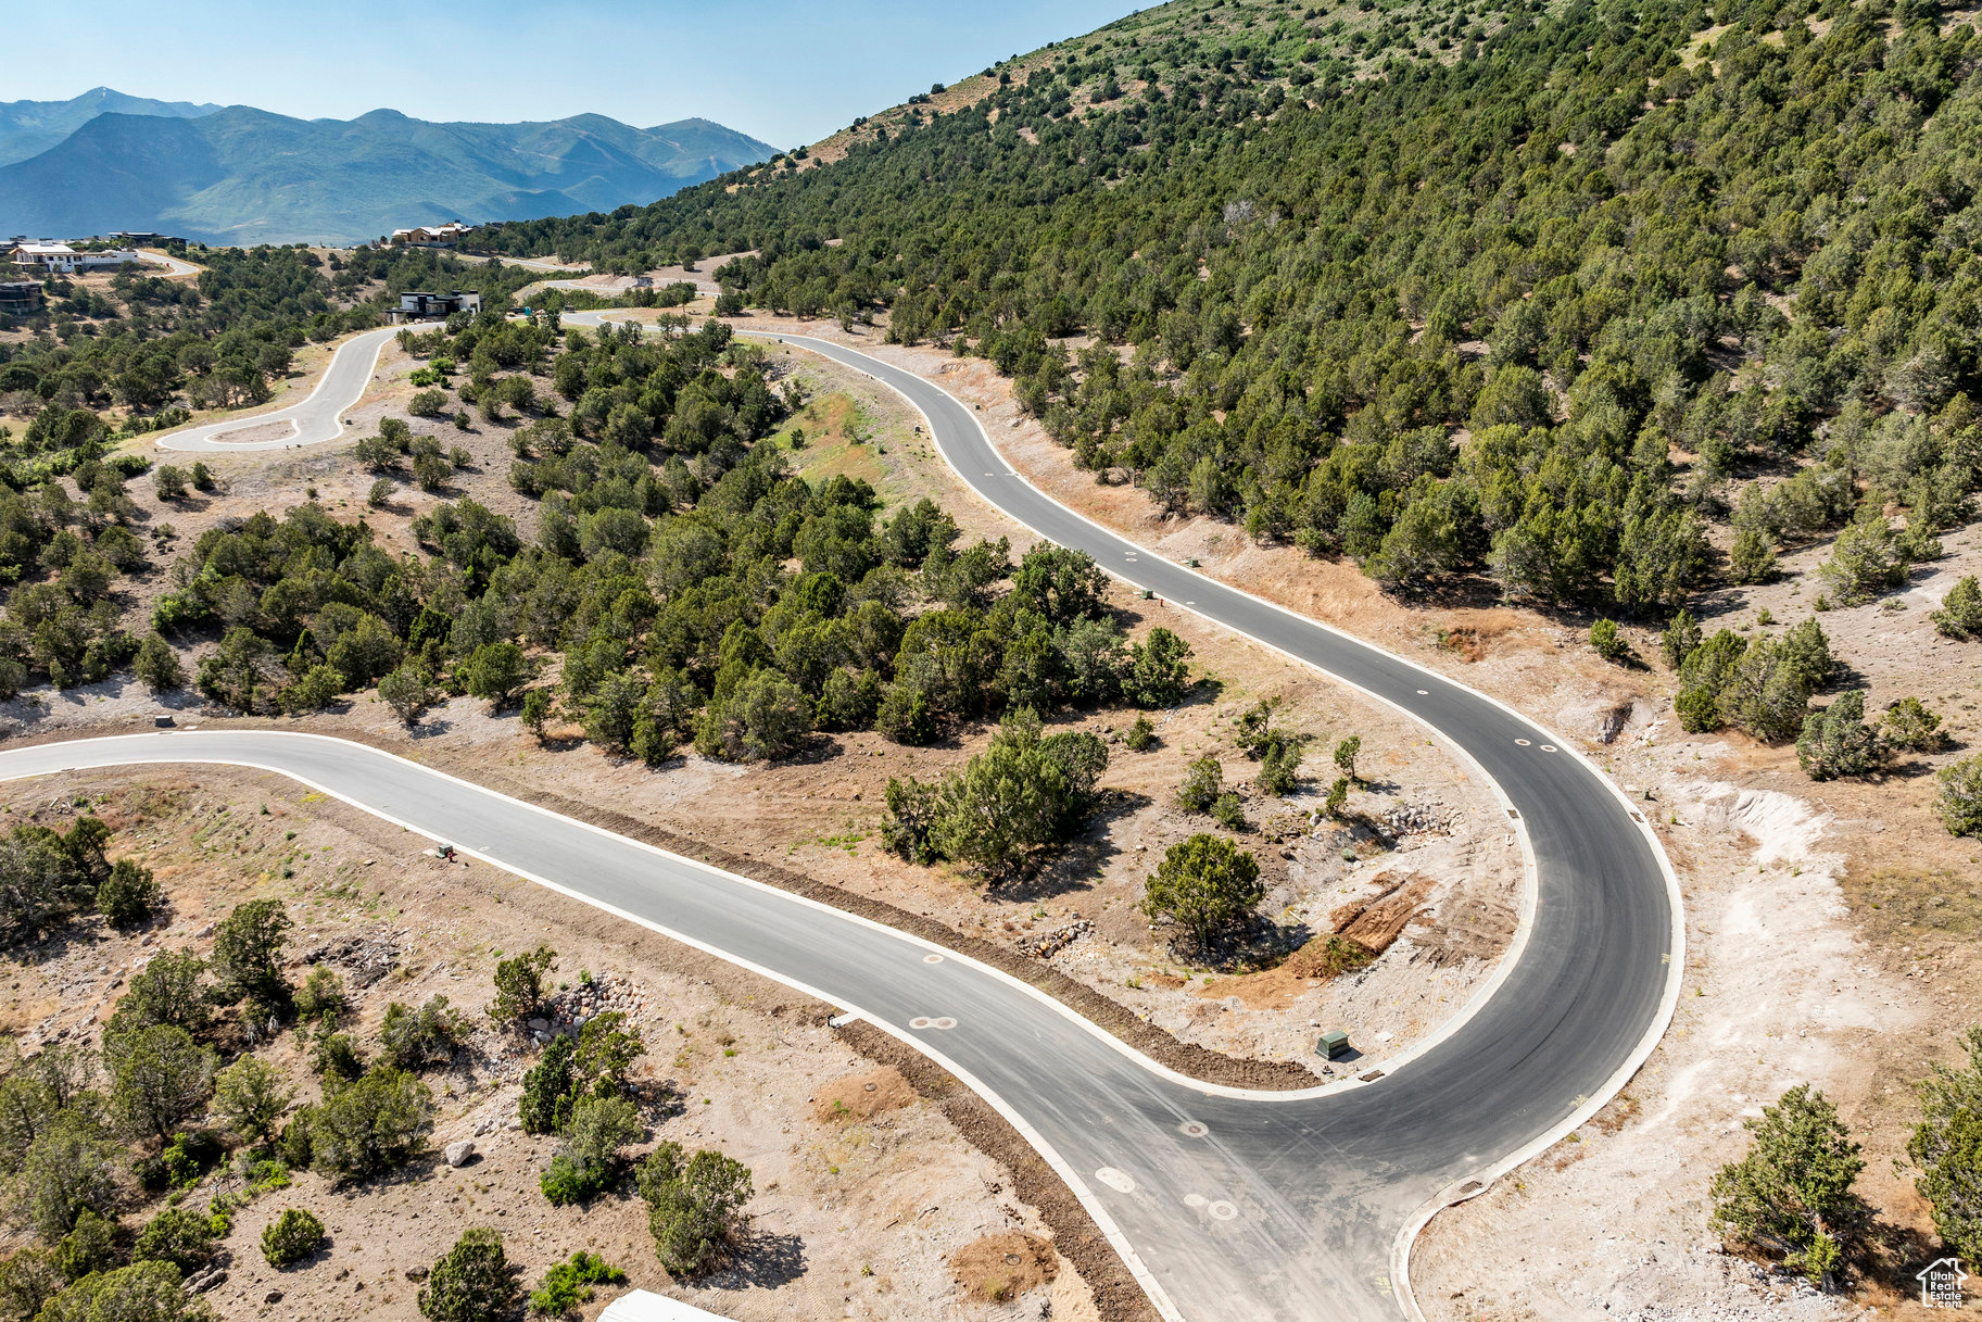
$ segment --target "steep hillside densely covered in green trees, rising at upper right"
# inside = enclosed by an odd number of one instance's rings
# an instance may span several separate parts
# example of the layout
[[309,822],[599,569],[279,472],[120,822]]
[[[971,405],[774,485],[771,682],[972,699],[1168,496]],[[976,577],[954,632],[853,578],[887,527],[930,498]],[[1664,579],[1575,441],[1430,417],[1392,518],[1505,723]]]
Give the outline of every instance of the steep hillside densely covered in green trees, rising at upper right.
[[1171,509],[1657,612],[1853,517],[1889,581],[1964,517],[1978,54],[1913,0],[1183,0],[492,242],[755,248],[731,305],[888,309]]

